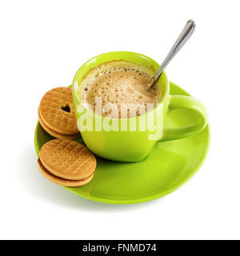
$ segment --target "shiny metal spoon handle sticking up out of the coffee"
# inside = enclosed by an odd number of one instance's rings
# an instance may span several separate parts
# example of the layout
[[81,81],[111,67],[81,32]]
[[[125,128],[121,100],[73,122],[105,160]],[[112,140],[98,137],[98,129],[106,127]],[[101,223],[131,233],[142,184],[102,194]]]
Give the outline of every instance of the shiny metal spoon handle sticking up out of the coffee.
[[165,70],[167,64],[170,62],[172,58],[178,53],[178,50],[184,46],[186,41],[190,38],[190,36],[194,33],[195,23],[193,20],[189,20],[186,22],[185,27],[183,28],[181,34],[179,35],[177,41],[174,43],[174,46],[170,50],[169,54],[167,54],[165,60],[162,62],[162,65],[158,69],[157,73],[151,79],[150,84],[147,86],[147,90],[150,90],[150,87],[160,78],[162,71]]

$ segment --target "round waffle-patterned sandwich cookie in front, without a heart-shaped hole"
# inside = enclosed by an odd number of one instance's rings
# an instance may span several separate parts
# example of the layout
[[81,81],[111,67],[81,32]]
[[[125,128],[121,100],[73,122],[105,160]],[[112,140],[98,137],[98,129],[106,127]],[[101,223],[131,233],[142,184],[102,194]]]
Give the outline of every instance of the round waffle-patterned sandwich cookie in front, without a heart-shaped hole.
[[38,168],[51,182],[82,186],[94,177],[96,158],[82,144],[67,139],[46,142],[39,152]]

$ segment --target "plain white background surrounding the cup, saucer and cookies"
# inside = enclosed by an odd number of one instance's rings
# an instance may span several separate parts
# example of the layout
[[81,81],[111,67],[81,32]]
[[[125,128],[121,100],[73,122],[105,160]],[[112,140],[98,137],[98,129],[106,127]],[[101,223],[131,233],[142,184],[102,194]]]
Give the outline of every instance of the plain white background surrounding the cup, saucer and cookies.
[[[239,1],[1,1],[0,238],[240,238]],[[197,28],[166,69],[204,102],[212,142],[198,174],[136,205],[79,198],[38,172],[42,95],[89,58],[130,50],[162,62],[188,19]]]

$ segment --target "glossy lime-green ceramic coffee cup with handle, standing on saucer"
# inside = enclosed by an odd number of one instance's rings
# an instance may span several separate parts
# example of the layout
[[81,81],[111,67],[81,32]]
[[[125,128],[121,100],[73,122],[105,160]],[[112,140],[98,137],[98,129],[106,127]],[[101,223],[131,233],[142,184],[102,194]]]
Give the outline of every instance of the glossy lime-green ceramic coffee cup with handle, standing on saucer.
[[[166,73],[163,72],[158,81],[162,91],[162,99],[154,110],[134,118],[106,118],[94,114],[80,101],[82,79],[88,71],[104,62],[125,60],[135,64],[145,64],[149,68],[158,70],[159,64],[142,54],[127,51],[110,52],[91,58],[83,64],[74,76],[73,98],[74,110],[78,129],[86,146],[101,158],[122,162],[138,162],[146,158],[147,154],[158,141],[168,141],[197,134],[203,130],[208,122],[204,105],[190,96],[170,95],[170,84]],[[175,109],[194,110],[191,125],[168,128],[164,130],[166,114]],[[198,118],[196,117],[196,112]],[[191,116],[191,114],[190,114]]]

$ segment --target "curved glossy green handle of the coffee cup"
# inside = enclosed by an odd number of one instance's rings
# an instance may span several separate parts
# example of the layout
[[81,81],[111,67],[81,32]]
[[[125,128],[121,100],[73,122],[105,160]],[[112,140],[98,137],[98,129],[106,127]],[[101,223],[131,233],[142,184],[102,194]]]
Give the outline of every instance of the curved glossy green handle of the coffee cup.
[[177,138],[184,138],[191,134],[197,134],[203,130],[208,123],[206,107],[202,104],[202,102],[199,102],[198,99],[194,97],[171,95],[167,113],[177,109],[194,110],[198,113],[198,119],[193,124],[188,126],[164,129],[161,141],[170,141]]

